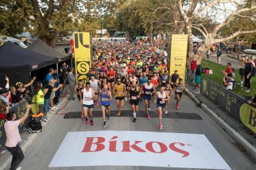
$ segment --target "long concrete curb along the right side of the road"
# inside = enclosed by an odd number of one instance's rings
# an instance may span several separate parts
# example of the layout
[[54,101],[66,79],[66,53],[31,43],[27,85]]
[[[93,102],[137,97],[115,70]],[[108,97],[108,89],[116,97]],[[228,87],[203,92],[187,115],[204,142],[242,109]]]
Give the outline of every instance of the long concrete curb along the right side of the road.
[[185,89],[185,92],[193,101],[195,101],[195,103],[200,105],[201,109],[208,116],[210,116],[210,118],[212,118],[212,120],[214,120],[214,122],[216,122],[220,126],[220,128],[225,130],[232,138],[234,138],[234,140],[236,140],[236,142],[241,144],[245,148],[247,153],[251,155],[252,159],[256,161],[256,148],[251,143],[249,143],[245,138],[243,138],[243,136],[241,136],[241,134],[236,132],[236,130],[229,126],[224,120],[222,120],[222,118],[220,118],[220,116],[218,116],[213,110],[208,108],[205,103],[200,102],[197,97],[193,95],[193,93],[191,93],[187,88]]

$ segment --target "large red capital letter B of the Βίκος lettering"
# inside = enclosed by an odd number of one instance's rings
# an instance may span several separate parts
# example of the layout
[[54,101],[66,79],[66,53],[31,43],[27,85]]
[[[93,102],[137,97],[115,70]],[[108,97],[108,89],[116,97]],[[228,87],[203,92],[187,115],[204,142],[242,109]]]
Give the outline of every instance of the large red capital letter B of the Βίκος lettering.
[[[94,138],[97,139],[96,142],[94,142]],[[102,144],[102,142],[104,141],[105,141],[105,138],[103,137],[87,137],[86,144],[84,145],[84,149],[82,153],[102,151],[105,148],[104,144]],[[92,144],[96,144],[95,151],[92,151]]]

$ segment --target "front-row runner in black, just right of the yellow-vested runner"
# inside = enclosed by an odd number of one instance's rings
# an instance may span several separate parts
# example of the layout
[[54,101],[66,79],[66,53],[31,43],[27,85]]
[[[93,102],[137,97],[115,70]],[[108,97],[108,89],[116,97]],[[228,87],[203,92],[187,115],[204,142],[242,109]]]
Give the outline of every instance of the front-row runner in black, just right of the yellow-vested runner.
[[139,110],[139,97],[141,89],[137,86],[136,81],[131,82],[131,87],[129,88],[129,99],[131,108],[133,108],[133,123],[136,122],[136,112]]

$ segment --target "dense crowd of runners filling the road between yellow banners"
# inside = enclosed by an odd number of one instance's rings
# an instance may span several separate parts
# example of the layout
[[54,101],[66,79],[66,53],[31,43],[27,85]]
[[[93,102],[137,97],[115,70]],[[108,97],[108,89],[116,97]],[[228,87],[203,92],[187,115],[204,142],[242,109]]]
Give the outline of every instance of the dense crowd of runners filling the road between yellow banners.
[[185,88],[177,71],[168,74],[166,59],[167,53],[159,42],[96,43],[88,80],[86,84],[79,80],[74,90],[82,103],[82,118],[86,124],[94,125],[92,110],[100,103],[103,126],[106,127],[111,112],[110,101],[115,98],[117,116],[121,116],[125,101],[129,101],[133,122],[136,122],[139,102],[145,103],[148,120],[151,102],[156,102],[158,128],[162,129],[162,113],[168,114],[170,97],[175,94],[176,108],[179,109]]

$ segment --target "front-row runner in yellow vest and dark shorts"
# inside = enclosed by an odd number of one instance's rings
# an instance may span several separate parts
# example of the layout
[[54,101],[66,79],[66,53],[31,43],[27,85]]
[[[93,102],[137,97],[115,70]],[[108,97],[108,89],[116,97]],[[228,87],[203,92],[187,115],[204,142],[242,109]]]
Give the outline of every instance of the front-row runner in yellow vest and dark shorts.
[[125,99],[125,85],[121,83],[121,79],[117,79],[117,84],[114,86],[114,95],[116,95],[116,101],[117,101],[117,116],[121,115],[121,108],[123,108],[123,103]]

